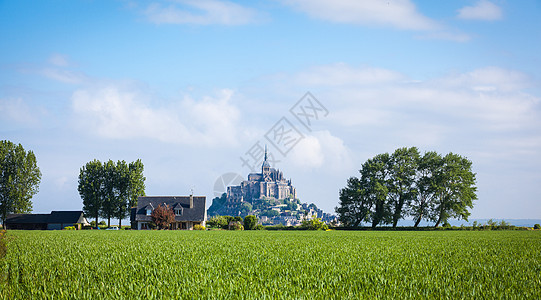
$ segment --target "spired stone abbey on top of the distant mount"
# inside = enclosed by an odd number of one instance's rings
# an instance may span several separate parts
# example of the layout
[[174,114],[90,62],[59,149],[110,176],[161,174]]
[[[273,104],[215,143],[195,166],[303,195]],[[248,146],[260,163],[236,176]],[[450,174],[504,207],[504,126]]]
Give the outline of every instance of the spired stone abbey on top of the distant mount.
[[261,173],[250,173],[248,180],[242,181],[240,185],[227,187],[227,205],[234,206],[242,202],[253,203],[255,199],[263,197],[275,199],[297,198],[291,179],[286,180],[280,170],[271,168],[267,161],[266,149],[265,160],[261,165]]

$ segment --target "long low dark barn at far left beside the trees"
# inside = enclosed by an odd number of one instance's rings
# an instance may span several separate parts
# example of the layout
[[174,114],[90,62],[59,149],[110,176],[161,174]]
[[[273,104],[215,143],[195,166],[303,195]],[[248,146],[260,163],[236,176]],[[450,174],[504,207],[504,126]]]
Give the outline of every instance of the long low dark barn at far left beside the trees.
[[80,210],[52,211],[50,214],[9,214],[4,226],[6,229],[61,230],[68,226],[82,229],[90,225]]

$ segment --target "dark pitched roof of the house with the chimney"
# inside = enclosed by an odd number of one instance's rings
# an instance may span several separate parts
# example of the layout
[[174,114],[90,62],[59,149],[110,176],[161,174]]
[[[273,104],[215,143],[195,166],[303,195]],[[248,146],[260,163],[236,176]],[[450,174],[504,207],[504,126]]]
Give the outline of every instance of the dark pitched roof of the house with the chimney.
[[182,207],[182,215],[175,216],[175,221],[204,221],[206,210],[206,197],[193,196],[193,208],[190,208],[190,196],[154,196],[139,197],[137,199],[137,210],[135,221],[151,221],[146,215],[146,207],[152,205],[154,208],[161,204],[169,205],[171,208]]

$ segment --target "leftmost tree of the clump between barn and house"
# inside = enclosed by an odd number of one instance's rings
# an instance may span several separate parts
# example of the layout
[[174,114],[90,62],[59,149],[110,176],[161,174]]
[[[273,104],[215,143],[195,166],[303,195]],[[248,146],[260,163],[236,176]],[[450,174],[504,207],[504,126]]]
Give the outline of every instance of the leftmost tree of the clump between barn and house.
[[86,163],[79,172],[79,185],[77,190],[83,199],[83,212],[96,219],[101,212],[103,204],[103,165],[99,160]]

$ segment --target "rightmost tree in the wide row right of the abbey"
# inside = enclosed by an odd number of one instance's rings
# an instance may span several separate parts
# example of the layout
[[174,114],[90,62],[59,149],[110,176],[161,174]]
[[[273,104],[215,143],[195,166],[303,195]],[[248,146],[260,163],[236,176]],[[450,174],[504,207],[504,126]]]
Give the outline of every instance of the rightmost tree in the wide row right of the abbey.
[[443,158],[441,172],[437,175],[434,227],[450,217],[468,221],[468,208],[472,208],[473,200],[477,199],[475,173],[471,167],[472,162],[458,154],[449,153]]

